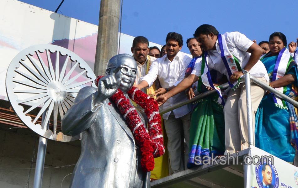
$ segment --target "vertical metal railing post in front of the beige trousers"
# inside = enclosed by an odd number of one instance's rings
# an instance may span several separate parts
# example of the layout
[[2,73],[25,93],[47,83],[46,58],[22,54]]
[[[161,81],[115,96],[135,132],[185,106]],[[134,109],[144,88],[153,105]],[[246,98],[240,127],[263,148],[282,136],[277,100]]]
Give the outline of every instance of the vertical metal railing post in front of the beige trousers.
[[248,147],[254,146],[253,143],[253,112],[252,112],[252,97],[250,91],[250,74],[246,72],[245,77],[245,90],[246,90],[246,110],[247,110],[247,128],[248,128]]

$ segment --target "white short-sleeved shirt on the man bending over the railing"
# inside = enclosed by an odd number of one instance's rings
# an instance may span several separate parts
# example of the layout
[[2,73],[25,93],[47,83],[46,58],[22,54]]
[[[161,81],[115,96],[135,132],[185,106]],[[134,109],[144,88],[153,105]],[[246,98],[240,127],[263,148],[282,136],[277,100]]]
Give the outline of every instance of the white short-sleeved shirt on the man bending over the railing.
[[[229,51],[240,62],[242,62],[243,69],[250,58],[250,53],[248,53],[247,50],[253,44],[253,41],[248,39],[244,34],[241,34],[239,32],[225,33],[223,35],[226,36],[226,44],[228,46]],[[210,57],[208,66],[210,69],[215,69],[220,73],[226,75],[227,79],[230,80],[226,67],[221,59],[218,40],[216,40],[215,46],[216,50],[208,51],[208,55]],[[201,63],[202,62],[197,63],[196,61],[196,64],[194,65],[194,70],[191,72],[191,74],[194,74],[196,76],[201,75]],[[248,72],[251,74],[251,76],[255,78],[265,77],[265,79],[269,81],[267,70],[262,61],[260,60],[258,60],[258,62]]]

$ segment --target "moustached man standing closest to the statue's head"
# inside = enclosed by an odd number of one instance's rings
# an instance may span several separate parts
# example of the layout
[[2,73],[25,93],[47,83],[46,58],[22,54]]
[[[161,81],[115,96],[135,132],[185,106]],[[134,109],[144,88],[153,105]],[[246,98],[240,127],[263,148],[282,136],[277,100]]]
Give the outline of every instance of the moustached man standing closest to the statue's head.
[[[137,75],[135,85],[141,83],[141,77],[145,76],[148,71],[151,63],[156,60],[155,57],[149,56],[149,41],[146,37],[138,36],[135,37],[132,41],[131,53],[133,53],[133,57],[136,60],[137,64]],[[142,89],[144,93],[152,97],[155,94],[155,85],[147,89]]]

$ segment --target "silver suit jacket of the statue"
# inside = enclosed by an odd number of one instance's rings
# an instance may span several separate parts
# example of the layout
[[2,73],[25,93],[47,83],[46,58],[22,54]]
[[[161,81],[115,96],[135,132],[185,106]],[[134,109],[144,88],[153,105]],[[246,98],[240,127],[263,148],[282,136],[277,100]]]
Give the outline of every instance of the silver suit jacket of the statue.
[[82,88],[62,120],[63,133],[81,133],[82,152],[70,187],[146,187],[140,151],[125,119],[109,98],[93,104],[96,91]]

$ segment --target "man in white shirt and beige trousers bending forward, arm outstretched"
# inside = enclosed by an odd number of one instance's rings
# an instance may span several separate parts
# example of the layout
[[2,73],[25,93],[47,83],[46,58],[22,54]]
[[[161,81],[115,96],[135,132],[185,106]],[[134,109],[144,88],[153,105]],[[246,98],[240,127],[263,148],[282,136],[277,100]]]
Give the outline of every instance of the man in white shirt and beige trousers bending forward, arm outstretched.
[[[263,49],[248,39],[244,34],[231,32],[221,35],[214,26],[207,24],[197,28],[194,37],[198,40],[201,48],[208,52],[206,58],[205,56],[203,56],[203,58],[208,60],[210,70],[214,69],[226,75],[230,86],[233,86],[234,89],[228,91],[228,97],[224,107],[225,154],[246,149],[248,148],[248,126],[245,84],[236,84],[236,86],[234,86],[234,84],[238,83],[240,76],[243,76],[243,72],[246,71],[258,80],[269,84],[267,71],[263,63],[259,61]],[[228,55],[225,55],[225,53],[228,53]],[[226,62],[224,62],[224,59]],[[233,70],[233,72],[231,70]],[[178,86],[173,88],[170,92],[158,97],[157,102],[159,102],[159,104],[164,103],[169,97],[183,91],[186,87],[197,81],[200,75],[201,62],[198,62],[189,77],[181,81]],[[253,83],[251,84],[253,113],[257,111],[258,105],[265,92],[266,90],[260,86]],[[253,115],[253,138],[254,125]]]

